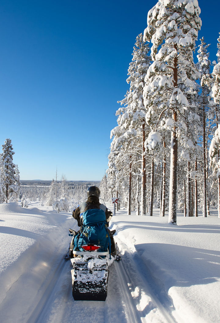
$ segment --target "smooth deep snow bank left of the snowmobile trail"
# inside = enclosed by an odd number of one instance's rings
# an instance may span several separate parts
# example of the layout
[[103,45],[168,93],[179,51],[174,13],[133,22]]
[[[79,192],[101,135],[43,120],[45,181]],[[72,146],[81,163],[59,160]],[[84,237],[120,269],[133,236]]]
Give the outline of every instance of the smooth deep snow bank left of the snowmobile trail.
[[[30,208],[22,208],[15,202],[0,204],[0,303],[28,271],[33,275],[28,289],[30,295],[35,295],[51,266],[60,261],[60,254],[56,259],[58,251],[63,249],[65,254],[68,248],[68,219],[72,220],[71,214],[57,214],[52,208],[47,211],[31,204]],[[21,290],[23,284],[19,287]],[[19,304],[18,300],[16,303]]]

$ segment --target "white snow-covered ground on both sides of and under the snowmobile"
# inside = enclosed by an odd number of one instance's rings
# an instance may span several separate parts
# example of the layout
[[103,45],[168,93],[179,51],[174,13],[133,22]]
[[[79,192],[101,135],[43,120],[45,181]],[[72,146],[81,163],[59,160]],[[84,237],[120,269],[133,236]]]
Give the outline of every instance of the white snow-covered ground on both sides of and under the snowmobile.
[[[112,209],[110,204],[107,207]],[[0,224],[3,323],[131,322],[128,294],[121,298],[126,283],[123,289],[123,276],[118,278],[116,270],[123,264],[127,270],[132,266],[126,263],[128,254],[136,262],[130,297],[137,312],[145,313],[140,322],[220,321],[220,219],[216,210],[207,218],[178,213],[176,226],[168,224],[167,214],[159,217],[158,209],[152,217],[116,211],[109,228],[116,229],[114,238],[122,260],[109,266],[105,302],[74,301],[72,297],[72,264],[64,260],[71,239],[68,229],[78,229],[71,213],[57,213],[38,202],[29,201],[28,208],[4,203],[0,204]],[[151,294],[138,275],[146,278]],[[160,303],[155,305],[152,293]],[[162,307],[170,319],[163,316]]]

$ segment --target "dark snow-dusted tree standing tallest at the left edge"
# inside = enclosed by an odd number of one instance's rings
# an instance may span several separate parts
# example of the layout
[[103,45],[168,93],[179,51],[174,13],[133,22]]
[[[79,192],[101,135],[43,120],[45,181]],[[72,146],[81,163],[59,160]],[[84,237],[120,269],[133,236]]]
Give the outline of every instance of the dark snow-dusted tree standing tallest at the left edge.
[[13,151],[12,148],[12,143],[11,139],[5,139],[4,145],[2,145],[2,158],[3,158],[3,163],[5,167],[5,187],[6,187],[6,202],[9,199],[10,193],[13,193],[15,191],[15,183],[16,183],[16,178],[15,178],[15,164],[13,163],[13,155],[15,152]]

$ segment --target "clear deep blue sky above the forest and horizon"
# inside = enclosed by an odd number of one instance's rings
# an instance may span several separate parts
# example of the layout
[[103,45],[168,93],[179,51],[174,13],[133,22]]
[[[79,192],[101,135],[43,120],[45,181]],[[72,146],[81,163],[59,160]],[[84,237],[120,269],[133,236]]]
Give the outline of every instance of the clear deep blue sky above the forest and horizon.
[[[136,36],[157,1],[1,0],[0,144],[23,180],[101,180]],[[200,0],[216,60],[219,0]]]

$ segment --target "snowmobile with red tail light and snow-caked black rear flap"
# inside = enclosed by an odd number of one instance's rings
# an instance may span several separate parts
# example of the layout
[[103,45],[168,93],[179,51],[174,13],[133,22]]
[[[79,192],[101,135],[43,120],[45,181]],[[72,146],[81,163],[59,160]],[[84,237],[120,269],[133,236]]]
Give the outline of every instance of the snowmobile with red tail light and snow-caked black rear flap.
[[[76,247],[76,239],[79,234],[72,229],[69,229],[69,232],[73,238],[66,258],[69,258],[73,264],[71,274],[74,300],[105,301],[109,276],[108,263],[111,263],[111,259],[112,261],[121,259],[117,243],[114,242],[114,255],[110,255],[109,248],[103,251],[98,241],[97,243],[84,243],[80,247]],[[114,233],[115,230],[111,231],[110,237]],[[112,239],[112,241],[114,240]]]

